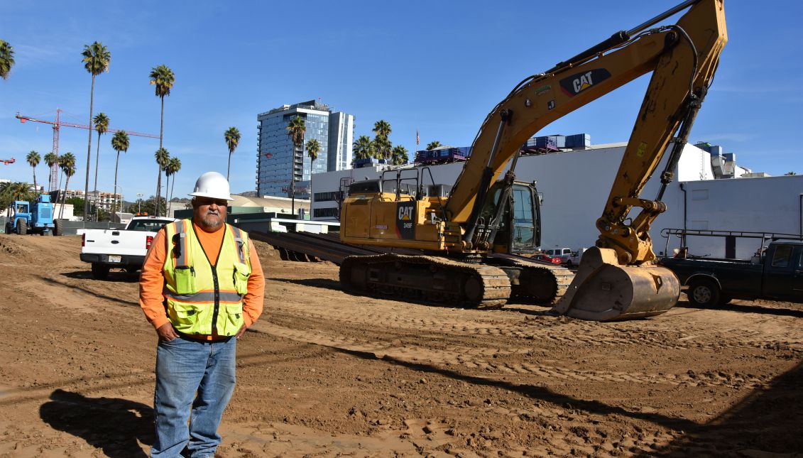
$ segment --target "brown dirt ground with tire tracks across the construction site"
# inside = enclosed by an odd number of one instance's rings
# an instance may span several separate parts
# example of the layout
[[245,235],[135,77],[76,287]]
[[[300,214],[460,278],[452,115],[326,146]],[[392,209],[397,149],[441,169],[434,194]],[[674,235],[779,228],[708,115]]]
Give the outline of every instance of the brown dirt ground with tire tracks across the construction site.
[[[341,292],[257,243],[222,457],[803,456],[803,305],[596,323]],[[77,237],[0,235],[0,456],[145,456],[156,333]]]

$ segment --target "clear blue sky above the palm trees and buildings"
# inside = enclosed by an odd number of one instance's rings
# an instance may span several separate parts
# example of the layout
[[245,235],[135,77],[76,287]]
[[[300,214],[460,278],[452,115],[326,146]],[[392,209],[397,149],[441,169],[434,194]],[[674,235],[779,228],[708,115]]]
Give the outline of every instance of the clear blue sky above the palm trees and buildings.
[[[111,127],[159,133],[152,67],[173,69],[165,99],[165,148],[181,159],[176,195],[206,170],[226,173],[224,131],[243,134],[232,157],[233,192],[255,190],[256,116],[318,99],[356,117],[355,136],[384,119],[410,151],[427,142],[467,146],[487,112],[525,76],[634,27],[679,0],[644,2],[4,2],[0,39],[16,65],[0,80],[0,178],[31,181],[26,153],[51,149],[49,125],[16,112],[88,124],[91,77],[80,53],[104,43],[94,112]],[[803,174],[803,3],[728,0],[728,45],[690,140],[722,145],[753,171]],[[672,21],[670,21],[672,22]],[[589,133],[626,141],[647,79],[618,89],[540,134]],[[70,187],[83,189],[88,132],[63,128],[60,152],[78,158]],[[92,139],[92,163],[96,150]],[[112,190],[111,135],[100,143],[100,190]],[[118,182],[126,200],[155,194],[158,140],[132,137]],[[92,171],[92,174],[94,170]],[[570,174],[567,171],[567,174]],[[46,166],[37,168],[43,182]],[[90,179],[90,187],[92,187]],[[612,178],[613,180],[613,178]],[[75,184],[75,186],[73,186]]]

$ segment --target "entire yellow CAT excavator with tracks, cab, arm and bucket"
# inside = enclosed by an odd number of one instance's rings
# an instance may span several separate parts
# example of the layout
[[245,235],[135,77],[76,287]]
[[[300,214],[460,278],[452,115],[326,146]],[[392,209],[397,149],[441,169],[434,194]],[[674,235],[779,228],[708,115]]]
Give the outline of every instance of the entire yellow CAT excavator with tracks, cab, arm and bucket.
[[[675,24],[656,26],[686,9]],[[486,117],[454,186],[435,184],[426,167],[353,183],[341,209],[340,240],[393,251],[345,258],[341,284],[463,307],[534,301],[594,321],[671,309],[680,285],[654,264],[650,224],[666,210],[662,195],[727,41],[723,0],[683,2],[516,85]],[[522,145],[647,72],[649,87],[597,219],[597,246],[584,253],[576,275],[526,256],[540,244],[540,207],[535,183],[516,181]],[[640,198],[670,145],[658,196]]]

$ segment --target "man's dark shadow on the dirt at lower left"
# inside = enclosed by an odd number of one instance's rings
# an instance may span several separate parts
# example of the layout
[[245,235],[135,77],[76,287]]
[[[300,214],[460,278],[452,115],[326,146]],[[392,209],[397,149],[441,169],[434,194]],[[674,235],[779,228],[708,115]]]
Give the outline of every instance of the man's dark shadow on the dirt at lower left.
[[56,390],[39,407],[39,416],[54,429],[80,437],[112,458],[147,456],[142,444],[153,444],[153,409],[119,398],[87,398]]

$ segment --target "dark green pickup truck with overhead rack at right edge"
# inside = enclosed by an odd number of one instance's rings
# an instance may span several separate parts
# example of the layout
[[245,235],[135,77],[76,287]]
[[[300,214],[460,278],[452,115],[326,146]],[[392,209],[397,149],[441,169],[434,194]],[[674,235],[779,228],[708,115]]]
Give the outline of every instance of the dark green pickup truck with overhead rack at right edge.
[[[757,234],[764,233],[736,234],[760,238]],[[686,235],[711,234],[683,232]],[[689,256],[681,248],[674,257],[660,258],[658,264],[675,272],[680,284],[688,287],[689,302],[700,307],[724,305],[732,299],[803,303],[803,241],[800,235],[793,237],[797,240],[764,237],[756,256],[750,260]]]

